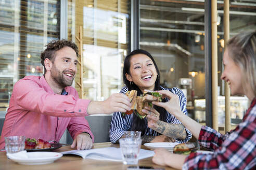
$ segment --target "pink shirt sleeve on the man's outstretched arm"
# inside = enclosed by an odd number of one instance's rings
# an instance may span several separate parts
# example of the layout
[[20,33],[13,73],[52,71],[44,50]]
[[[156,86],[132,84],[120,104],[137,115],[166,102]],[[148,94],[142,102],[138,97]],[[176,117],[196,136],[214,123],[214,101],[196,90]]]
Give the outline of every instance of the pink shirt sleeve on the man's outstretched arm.
[[[29,84],[30,86],[28,86]],[[16,104],[20,109],[40,112],[47,116],[84,117],[91,100],[83,100],[73,95],[47,93],[32,80],[21,79],[15,84]]]

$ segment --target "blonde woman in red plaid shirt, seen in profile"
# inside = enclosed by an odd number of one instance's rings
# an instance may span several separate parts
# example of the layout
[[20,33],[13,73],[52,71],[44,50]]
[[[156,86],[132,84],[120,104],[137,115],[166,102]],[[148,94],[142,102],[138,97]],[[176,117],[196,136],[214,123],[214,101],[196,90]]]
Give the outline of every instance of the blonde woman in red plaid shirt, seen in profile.
[[[199,144],[212,153],[172,154],[157,149],[153,162],[177,169],[256,169],[256,31],[241,33],[225,45],[223,56],[225,80],[233,95],[246,95],[251,101],[242,122],[225,135],[208,126],[202,126],[182,114],[176,107],[178,97],[160,91],[170,100],[155,103],[175,115],[198,139]],[[154,102],[153,102],[154,103]]]

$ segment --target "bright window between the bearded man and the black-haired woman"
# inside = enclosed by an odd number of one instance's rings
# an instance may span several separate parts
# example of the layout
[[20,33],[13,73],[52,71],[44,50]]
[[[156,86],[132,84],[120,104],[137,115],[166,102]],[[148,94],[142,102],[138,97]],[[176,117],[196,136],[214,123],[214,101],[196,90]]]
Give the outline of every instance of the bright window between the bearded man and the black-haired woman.
[[[130,48],[130,1],[75,1],[75,28],[70,32],[75,29],[79,35],[80,26],[84,98],[105,100],[112,93],[119,93],[123,86],[122,64]],[[78,78],[79,74],[75,81]],[[77,84],[75,88],[80,93]]]

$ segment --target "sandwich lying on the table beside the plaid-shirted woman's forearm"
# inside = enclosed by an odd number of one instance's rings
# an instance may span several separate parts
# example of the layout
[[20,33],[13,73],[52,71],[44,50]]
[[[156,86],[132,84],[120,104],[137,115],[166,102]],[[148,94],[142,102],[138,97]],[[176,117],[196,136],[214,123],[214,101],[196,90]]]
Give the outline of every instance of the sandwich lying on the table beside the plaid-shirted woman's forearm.
[[197,150],[195,143],[183,143],[174,146],[173,153],[189,154]]

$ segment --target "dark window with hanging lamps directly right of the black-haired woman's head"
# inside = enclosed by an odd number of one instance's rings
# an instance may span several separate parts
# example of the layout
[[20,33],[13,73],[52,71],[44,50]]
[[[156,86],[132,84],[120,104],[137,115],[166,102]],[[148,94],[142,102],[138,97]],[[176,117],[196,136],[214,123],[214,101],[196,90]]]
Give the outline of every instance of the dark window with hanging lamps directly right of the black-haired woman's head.
[[195,100],[205,98],[204,12],[194,9],[204,11],[204,2],[140,1],[139,47],[156,60],[161,86],[184,92],[196,119]]

